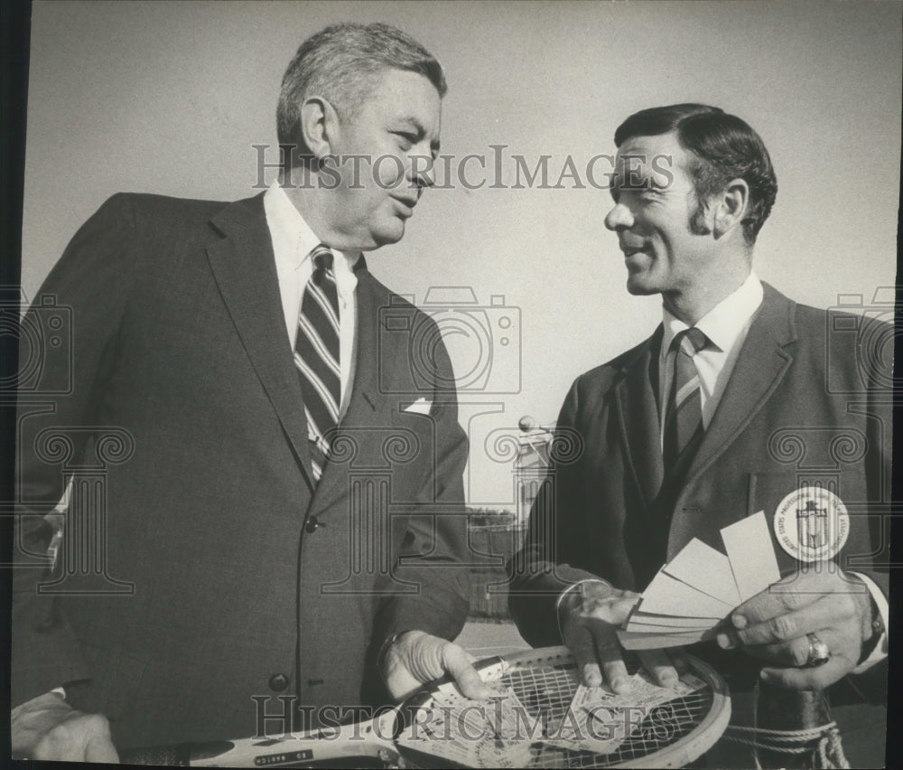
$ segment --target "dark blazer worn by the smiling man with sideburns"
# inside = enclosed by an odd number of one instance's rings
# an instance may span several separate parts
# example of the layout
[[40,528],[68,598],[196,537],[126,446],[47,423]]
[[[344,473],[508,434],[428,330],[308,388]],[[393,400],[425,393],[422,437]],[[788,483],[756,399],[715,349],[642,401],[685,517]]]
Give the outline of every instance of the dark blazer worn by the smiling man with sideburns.
[[[762,510],[770,524],[778,503],[805,483],[828,485],[849,510],[836,562],[887,592],[890,327],[764,289],[721,403],[677,484],[663,483],[662,327],[575,380],[558,420],[557,462],[510,565],[511,611],[528,642],[561,643],[554,605],[563,588],[599,576],[642,591],[694,537],[723,552],[721,528]],[[795,571],[771,535],[782,573]]]

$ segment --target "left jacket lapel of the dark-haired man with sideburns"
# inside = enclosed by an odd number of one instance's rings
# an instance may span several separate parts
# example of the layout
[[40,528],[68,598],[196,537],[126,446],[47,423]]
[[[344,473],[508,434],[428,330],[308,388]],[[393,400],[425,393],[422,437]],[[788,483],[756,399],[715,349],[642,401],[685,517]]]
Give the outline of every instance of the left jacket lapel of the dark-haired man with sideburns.
[[656,396],[663,332],[659,326],[638,354],[625,363],[624,377],[615,388],[624,452],[647,504],[656,499],[663,475]]

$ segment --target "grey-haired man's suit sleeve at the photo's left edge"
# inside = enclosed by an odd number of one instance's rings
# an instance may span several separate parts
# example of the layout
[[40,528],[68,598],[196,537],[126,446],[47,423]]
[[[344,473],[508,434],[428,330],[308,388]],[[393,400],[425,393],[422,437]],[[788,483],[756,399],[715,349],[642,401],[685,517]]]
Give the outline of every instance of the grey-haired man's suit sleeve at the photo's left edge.
[[[12,703],[90,676],[49,581],[53,517],[66,480],[42,432],[96,424],[116,329],[124,312],[133,230],[127,196],[110,198],[76,233],[23,316],[14,503]],[[31,347],[25,349],[24,345]],[[23,355],[26,360],[23,362]],[[32,362],[26,371],[24,363]],[[46,434],[45,434],[46,435]],[[70,431],[77,458],[85,439]],[[84,435],[82,433],[82,435]],[[51,514],[48,516],[48,514]]]

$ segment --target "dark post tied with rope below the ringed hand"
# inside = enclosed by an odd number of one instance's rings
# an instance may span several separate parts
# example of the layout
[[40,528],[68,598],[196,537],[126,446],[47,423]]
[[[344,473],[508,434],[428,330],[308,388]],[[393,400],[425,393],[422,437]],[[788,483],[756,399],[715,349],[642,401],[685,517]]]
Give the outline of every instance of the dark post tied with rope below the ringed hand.
[[[759,681],[757,727],[766,730],[807,730],[831,721],[824,692],[787,690]],[[811,756],[759,749],[762,767],[809,767]]]

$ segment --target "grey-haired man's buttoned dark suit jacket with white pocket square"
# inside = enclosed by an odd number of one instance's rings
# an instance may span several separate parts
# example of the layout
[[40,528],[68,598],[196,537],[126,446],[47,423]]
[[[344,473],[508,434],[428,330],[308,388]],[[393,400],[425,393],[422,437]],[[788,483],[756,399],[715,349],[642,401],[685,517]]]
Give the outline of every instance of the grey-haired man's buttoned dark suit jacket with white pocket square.
[[[386,639],[458,634],[467,440],[442,344],[412,359],[424,314],[358,272],[352,397],[314,492],[262,196],[116,195],[42,295],[71,308],[73,370],[70,392],[47,395],[69,358],[44,351],[48,387],[21,399],[20,556],[47,548],[28,514],[77,466],[101,481],[85,513],[77,476],[67,535],[106,541],[99,568],[78,559],[101,546],[67,542],[56,583],[17,571],[14,704],[65,684],[119,747],[250,736],[252,696],[379,700],[368,675]],[[418,398],[429,414],[404,410]]]

